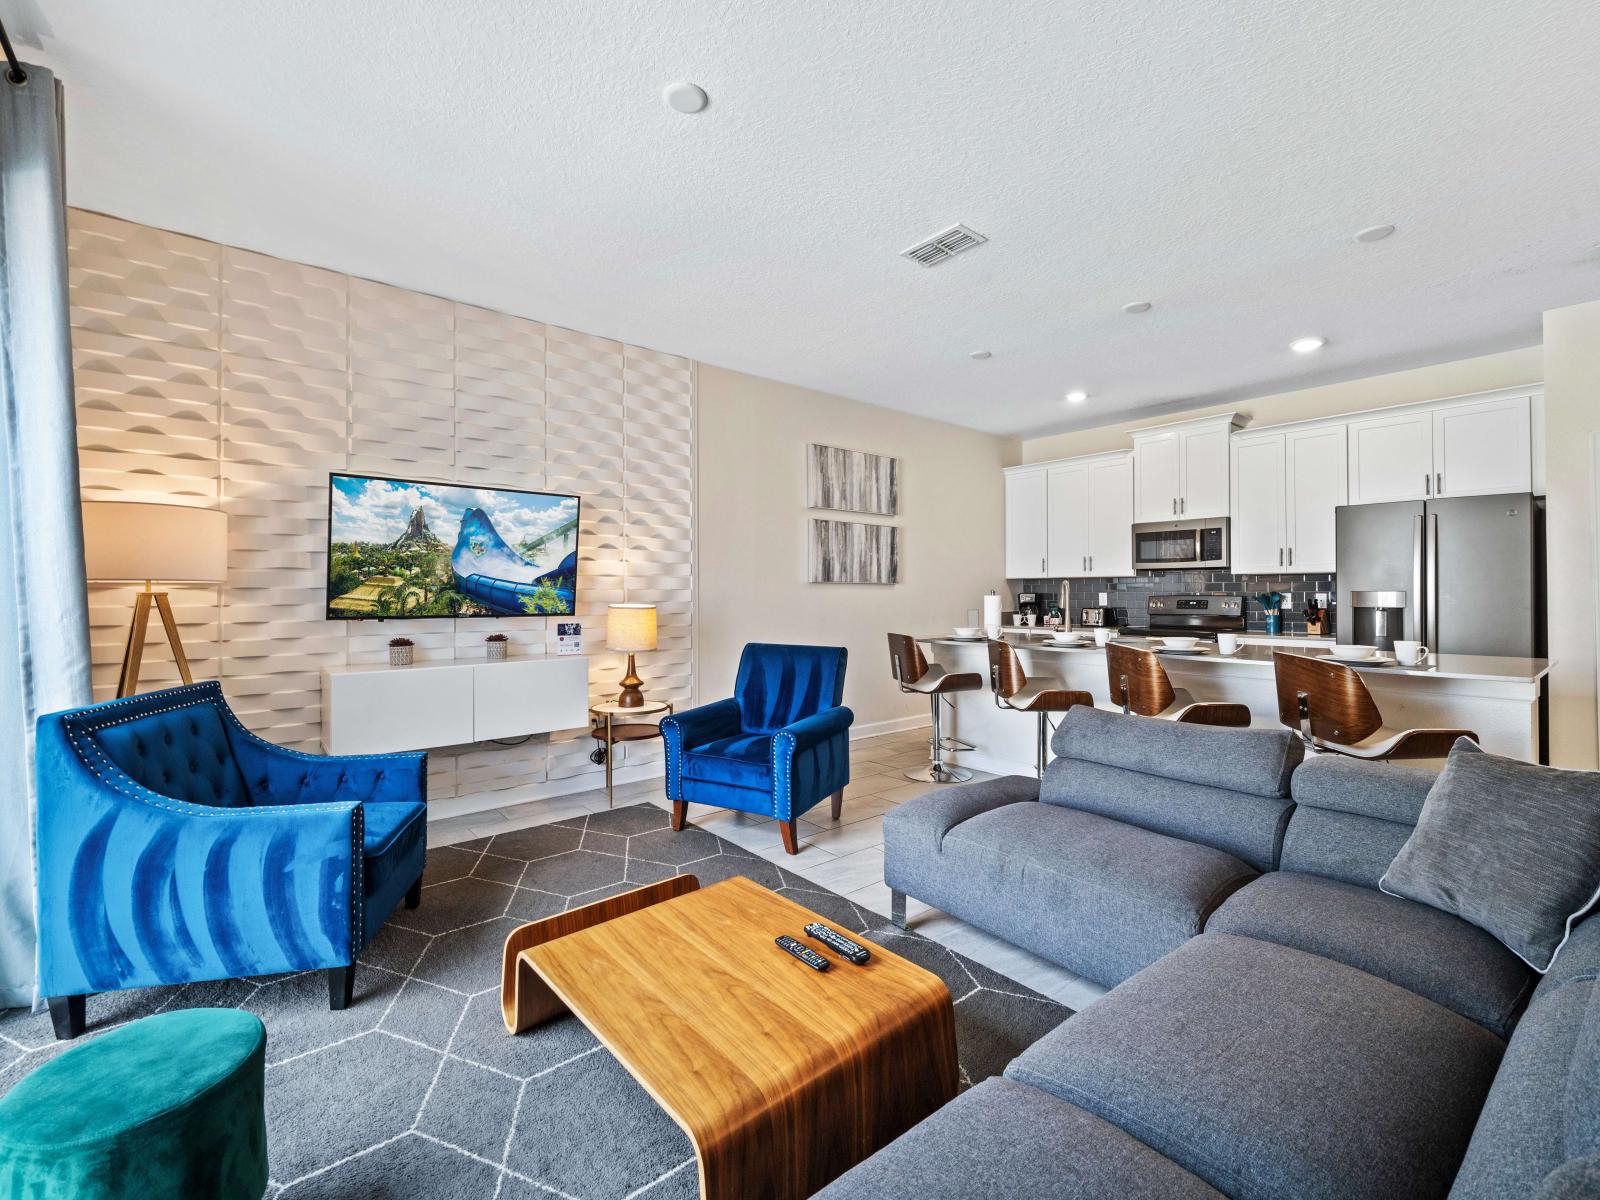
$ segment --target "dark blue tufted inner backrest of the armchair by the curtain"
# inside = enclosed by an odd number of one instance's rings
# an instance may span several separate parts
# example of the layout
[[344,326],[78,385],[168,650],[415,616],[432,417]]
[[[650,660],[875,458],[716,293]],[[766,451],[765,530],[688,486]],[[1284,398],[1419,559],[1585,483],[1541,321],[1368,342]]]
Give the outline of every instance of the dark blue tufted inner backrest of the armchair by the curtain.
[[130,704],[118,712],[118,706],[106,706],[85,723],[83,733],[134,782],[158,795],[218,808],[250,803],[211,691],[195,688],[189,702],[144,709],[146,704]]

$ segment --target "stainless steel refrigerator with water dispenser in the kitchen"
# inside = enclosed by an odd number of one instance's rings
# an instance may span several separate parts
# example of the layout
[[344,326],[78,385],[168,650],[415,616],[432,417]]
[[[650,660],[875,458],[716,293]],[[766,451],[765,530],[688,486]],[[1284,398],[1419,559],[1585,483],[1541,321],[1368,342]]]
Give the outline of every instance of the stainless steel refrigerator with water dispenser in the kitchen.
[[1336,512],[1341,642],[1544,654],[1544,506],[1531,493]]

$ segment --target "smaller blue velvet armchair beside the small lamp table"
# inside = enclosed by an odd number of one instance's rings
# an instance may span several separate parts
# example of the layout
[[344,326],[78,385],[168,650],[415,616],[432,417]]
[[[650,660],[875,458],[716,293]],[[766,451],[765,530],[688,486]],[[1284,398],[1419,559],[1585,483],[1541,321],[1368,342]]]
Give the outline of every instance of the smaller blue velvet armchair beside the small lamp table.
[[672,827],[683,829],[691,803],[760,813],[778,819],[794,854],[795,818],[832,797],[837,821],[850,782],[845,650],[752,642],[733,691],[661,722]]

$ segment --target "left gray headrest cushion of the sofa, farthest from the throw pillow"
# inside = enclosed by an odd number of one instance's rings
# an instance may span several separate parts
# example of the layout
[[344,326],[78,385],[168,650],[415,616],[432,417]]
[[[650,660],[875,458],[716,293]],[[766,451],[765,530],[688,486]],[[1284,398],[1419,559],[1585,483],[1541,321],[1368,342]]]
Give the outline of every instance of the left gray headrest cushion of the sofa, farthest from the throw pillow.
[[1061,718],[1051,747],[1059,758],[1267,798],[1290,794],[1290,776],[1306,757],[1290,730],[1224,730],[1082,704]]

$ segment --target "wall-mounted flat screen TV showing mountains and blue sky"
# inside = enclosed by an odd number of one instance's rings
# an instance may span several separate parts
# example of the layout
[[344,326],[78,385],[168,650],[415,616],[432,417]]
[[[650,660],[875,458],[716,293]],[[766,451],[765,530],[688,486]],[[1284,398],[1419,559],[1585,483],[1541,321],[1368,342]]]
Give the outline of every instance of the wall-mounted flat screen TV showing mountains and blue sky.
[[328,477],[328,619],[571,616],[578,498]]

